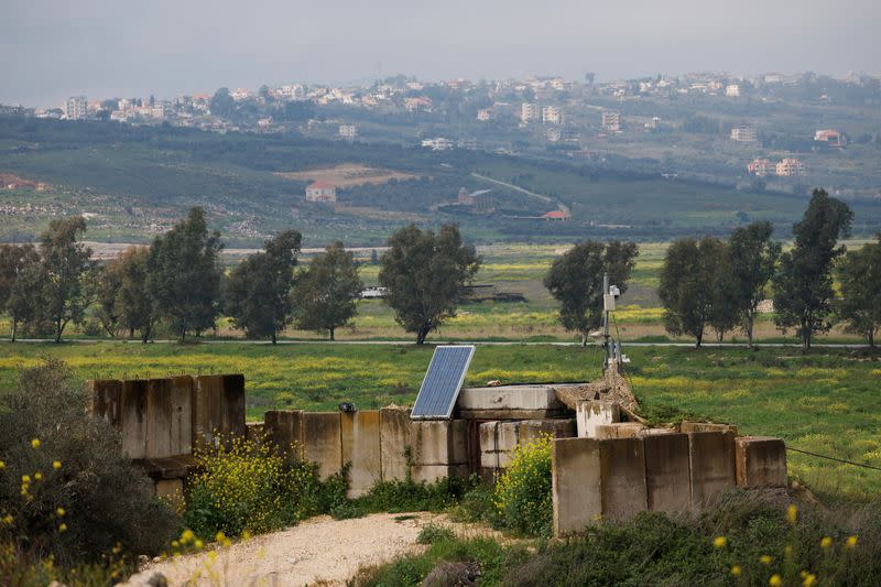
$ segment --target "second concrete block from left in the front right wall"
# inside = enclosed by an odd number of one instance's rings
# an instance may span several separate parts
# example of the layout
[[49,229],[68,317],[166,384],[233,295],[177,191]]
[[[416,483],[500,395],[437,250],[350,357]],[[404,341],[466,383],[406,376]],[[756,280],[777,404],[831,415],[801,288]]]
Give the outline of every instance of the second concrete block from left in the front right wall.
[[649,508],[642,438],[597,441],[602,517],[622,520]]

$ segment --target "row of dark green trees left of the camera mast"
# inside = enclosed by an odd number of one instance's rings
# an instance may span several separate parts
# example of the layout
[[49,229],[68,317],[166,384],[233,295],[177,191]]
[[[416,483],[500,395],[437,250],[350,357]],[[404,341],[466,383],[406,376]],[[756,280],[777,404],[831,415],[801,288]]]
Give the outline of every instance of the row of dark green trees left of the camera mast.
[[[289,326],[326,333],[350,323],[363,283],[358,263],[334,242],[297,268],[302,236],[284,230],[263,250],[224,271],[220,235],[209,230],[202,208],[193,208],[150,247],[130,247],[107,263],[91,260],[81,242],[83,217],[50,222],[34,244],[0,246],[0,311],[20,330],[52,333],[61,341],[68,324],[93,317],[110,337],[138,336],[148,343],[159,325],[184,341],[216,328],[221,315],[250,339],[273,344]],[[455,315],[463,286],[480,264],[455,225],[437,233],[411,225],[389,238],[379,282],[395,319],[417,344]]]

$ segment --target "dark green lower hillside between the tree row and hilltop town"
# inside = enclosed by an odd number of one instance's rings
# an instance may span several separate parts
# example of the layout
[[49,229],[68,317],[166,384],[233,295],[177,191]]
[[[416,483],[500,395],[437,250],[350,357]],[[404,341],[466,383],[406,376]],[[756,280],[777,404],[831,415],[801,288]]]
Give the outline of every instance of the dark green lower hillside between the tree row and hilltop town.
[[[336,206],[307,203],[315,170],[340,164],[385,175],[340,185]],[[455,221],[478,242],[663,240],[725,233],[754,219],[773,220],[785,236],[806,205],[802,196],[628,174],[601,162],[18,117],[0,117],[0,173],[23,180],[0,189],[0,241],[32,239],[67,214],[87,216],[91,239],[144,241],[195,205],[228,243],[243,246],[287,227],[307,246],[377,244],[409,221]],[[492,209],[453,205],[461,187],[491,189]],[[881,203],[852,206],[855,235],[881,226]],[[572,218],[541,218],[553,210]]]

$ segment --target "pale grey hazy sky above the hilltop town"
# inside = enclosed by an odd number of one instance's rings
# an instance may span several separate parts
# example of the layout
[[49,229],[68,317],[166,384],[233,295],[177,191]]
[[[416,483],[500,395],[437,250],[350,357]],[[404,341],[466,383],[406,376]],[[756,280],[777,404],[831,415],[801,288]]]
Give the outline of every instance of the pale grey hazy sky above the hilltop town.
[[0,102],[220,86],[881,72],[878,0],[0,0]]

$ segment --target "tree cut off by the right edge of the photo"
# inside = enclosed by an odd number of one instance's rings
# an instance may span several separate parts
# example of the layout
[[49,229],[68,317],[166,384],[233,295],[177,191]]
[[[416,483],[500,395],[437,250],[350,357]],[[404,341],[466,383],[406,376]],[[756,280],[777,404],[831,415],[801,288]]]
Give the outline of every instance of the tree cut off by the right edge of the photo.
[[848,251],[838,267],[838,317],[849,331],[864,336],[871,347],[881,328],[881,233],[877,238],[878,242]]

